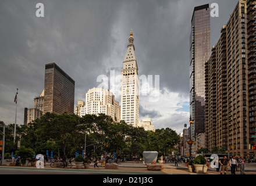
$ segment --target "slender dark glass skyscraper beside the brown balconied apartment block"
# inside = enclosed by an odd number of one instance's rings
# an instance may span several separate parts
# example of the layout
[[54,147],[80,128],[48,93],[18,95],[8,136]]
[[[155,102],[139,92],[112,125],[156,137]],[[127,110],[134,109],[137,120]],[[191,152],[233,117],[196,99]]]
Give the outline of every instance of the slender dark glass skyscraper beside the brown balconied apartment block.
[[194,8],[190,35],[190,116],[194,138],[205,131],[204,64],[211,55],[209,4]]

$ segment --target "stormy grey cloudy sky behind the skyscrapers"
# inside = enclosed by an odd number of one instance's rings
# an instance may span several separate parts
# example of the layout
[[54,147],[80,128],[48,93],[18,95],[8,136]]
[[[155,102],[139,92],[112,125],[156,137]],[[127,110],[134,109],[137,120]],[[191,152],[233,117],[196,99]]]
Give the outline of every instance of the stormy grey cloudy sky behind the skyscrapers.
[[[75,81],[74,105],[98,87],[97,78],[120,75],[133,30],[139,76],[154,90],[140,95],[139,119],[182,133],[189,123],[190,28],[195,6],[217,3],[211,45],[238,0],[2,0],[0,1],[0,121],[24,123],[24,108],[44,90],[45,64],[55,62]],[[37,3],[44,17],[37,17]],[[159,77],[159,81],[158,78]],[[116,81],[118,78],[116,78]],[[109,89],[111,89],[109,83]],[[116,82],[118,84],[118,81]],[[113,92],[120,101],[118,92]]]

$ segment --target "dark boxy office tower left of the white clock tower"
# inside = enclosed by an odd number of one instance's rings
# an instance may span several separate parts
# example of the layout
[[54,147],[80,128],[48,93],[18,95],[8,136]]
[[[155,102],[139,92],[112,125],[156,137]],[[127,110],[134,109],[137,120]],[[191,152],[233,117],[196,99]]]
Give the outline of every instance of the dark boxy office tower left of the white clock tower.
[[45,65],[44,112],[74,113],[74,80],[55,63]]

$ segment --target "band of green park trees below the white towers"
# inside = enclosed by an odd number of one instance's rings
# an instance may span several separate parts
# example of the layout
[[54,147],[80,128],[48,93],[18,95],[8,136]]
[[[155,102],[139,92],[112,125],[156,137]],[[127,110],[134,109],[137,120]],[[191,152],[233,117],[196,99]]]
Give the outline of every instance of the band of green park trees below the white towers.
[[53,152],[54,158],[74,157],[76,152],[83,152],[86,137],[86,156],[115,152],[127,159],[142,157],[144,151],[169,155],[176,150],[175,145],[180,141],[180,136],[171,128],[146,131],[143,127],[133,127],[125,121],[113,121],[112,117],[104,114],[79,117],[47,112],[33,123],[17,125],[15,142],[14,128],[14,124],[5,128],[5,156],[11,152],[17,155],[17,141],[20,141],[21,146],[29,148],[29,151],[33,149],[35,155],[45,155],[48,151]]

